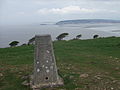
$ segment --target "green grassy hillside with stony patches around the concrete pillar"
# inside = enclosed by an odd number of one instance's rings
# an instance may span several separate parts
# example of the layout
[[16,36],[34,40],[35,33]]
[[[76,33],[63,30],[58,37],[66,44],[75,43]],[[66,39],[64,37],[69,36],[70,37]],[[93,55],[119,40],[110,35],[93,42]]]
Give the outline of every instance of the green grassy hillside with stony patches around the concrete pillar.
[[[46,90],[120,90],[120,38],[54,42],[65,85]],[[30,90],[23,76],[33,70],[33,46],[0,49],[0,90]]]

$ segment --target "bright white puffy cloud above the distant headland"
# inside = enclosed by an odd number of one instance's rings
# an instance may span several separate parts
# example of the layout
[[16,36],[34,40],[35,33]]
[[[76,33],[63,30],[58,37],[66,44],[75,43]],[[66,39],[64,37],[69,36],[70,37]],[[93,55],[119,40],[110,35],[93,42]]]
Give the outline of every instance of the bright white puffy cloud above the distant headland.
[[37,12],[40,14],[46,14],[46,13],[61,13],[61,14],[70,14],[70,13],[93,13],[93,12],[98,12],[100,11],[99,9],[90,9],[90,8],[80,8],[79,6],[67,6],[63,8],[42,8],[39,9]]

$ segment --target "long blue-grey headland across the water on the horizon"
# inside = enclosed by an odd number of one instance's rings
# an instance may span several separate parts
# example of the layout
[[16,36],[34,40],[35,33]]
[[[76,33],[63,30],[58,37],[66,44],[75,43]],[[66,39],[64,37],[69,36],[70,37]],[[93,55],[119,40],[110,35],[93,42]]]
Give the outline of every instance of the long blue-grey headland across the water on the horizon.
[[109,20],[109,19],[65,20],[65,21],[59,21],[59,22],[57,22],[56,25],[80,24],[80,23],[120,23],[120,20]]

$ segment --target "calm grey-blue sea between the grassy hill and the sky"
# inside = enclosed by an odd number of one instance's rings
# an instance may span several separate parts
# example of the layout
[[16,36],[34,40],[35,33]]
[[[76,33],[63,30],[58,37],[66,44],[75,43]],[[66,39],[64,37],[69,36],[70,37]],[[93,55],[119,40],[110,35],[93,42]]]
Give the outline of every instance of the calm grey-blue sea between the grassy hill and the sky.
[[96,34],[99,37],[120,37],[120,23],[1,25],[0,48],[9,47],[12,41],[19,41],[19,45],[27,44],[35,35],[50,34],[55,41],[61,33],[69,33],[64,40],[71,40],[79,34],[82,40],[93,39]]

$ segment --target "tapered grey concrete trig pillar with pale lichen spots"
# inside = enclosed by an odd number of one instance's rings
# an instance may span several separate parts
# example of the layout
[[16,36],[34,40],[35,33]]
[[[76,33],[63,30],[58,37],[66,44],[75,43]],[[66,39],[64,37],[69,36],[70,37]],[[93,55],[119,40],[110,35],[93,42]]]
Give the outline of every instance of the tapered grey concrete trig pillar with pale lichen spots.
[[34,74],[32,77],[33,90],[43,87],[63,85],[58,76],[52,40],[50,35],[35,36]]

